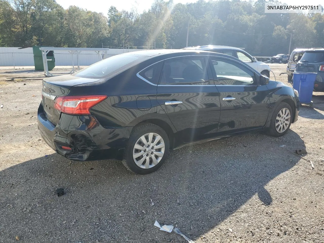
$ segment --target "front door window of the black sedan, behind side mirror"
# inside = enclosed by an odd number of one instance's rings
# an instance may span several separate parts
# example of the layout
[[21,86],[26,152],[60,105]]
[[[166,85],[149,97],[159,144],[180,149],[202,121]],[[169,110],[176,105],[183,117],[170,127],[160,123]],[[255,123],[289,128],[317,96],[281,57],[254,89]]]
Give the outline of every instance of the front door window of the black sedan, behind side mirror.
[[223,59],[212,59],[216,85],[253,85],[254,73],[241,64]]

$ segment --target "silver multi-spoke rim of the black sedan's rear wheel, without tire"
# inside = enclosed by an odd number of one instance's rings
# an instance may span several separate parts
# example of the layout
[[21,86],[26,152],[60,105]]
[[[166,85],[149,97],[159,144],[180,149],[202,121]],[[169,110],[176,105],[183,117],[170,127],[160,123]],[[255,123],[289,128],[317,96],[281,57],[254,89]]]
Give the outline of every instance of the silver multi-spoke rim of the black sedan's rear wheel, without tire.
[[133,147],[135,164],[143,169],[156,166],[165,151],[163,138],[157,133],[146,133],[141,136]]

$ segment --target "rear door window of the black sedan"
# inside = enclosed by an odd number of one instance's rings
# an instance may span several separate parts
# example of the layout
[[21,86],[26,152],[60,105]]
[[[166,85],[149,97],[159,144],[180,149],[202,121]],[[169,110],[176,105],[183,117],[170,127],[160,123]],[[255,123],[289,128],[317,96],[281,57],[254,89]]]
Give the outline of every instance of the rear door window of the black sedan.
[[209,85],[203,57],[165,60],[160,85]]

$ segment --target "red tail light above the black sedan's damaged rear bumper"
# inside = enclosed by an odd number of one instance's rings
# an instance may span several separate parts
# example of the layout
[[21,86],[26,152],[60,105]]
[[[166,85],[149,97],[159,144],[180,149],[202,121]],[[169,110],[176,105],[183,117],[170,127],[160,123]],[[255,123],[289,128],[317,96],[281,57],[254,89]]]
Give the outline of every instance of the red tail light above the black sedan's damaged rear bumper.
[[90,115],[90,108],[105,98],[106,95],[62,96],[55,99],[54,108],[66,114]]

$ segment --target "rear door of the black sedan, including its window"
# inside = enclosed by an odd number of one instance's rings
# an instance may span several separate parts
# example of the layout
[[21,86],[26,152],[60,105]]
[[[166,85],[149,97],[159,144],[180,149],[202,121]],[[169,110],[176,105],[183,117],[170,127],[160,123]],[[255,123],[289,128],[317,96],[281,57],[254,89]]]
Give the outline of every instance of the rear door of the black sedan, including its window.
[[220,100],[206,56],[164,61],[156,99],[184,143],[213,137]]

